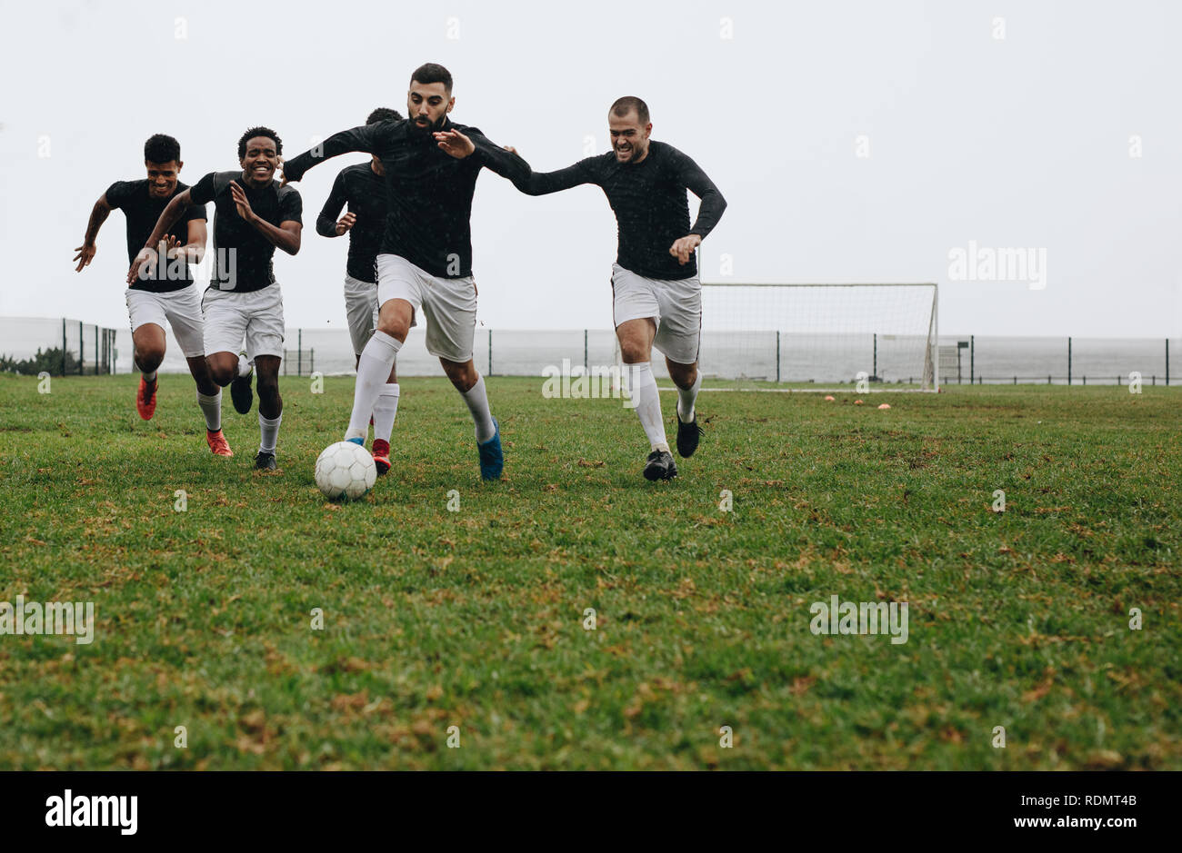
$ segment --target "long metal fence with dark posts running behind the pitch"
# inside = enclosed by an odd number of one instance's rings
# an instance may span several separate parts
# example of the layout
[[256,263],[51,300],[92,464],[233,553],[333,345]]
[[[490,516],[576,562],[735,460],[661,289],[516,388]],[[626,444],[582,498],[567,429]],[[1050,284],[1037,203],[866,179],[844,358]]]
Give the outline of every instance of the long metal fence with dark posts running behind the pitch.
[[[188,372],[170,330],[161,371]],[[701,369],[708,378],[768,383],[850,382],[858,371],[889,383],[917,383],[895,365],[883,336],[800,336],[756,331],[702,331]],[[355,356],[343,328],[288,328],[287,376],[351,375]],[[53,375],[130,373],[131,333],[63,318],[0,318],[0,371]],[[486,376],[543,376],[547,369],[603,367],[616,364],[611,330],[493,330],[478,326],[473,359]],[[1173,360],[1171,360],[1173,358]],[[1178,384],[1182,339],[941,336],[940,383],[949,384],[1125,384],[1139,373],[1143,384]],[[35,369],[34,369],[35,367]],[[655,353],[654,372],[664,378],[664,359]],[[411,328],[398,352],[400,376],[439,376],[439,359],[427,352],[423,327]],[[873,380],[873,379],[871,379]]]

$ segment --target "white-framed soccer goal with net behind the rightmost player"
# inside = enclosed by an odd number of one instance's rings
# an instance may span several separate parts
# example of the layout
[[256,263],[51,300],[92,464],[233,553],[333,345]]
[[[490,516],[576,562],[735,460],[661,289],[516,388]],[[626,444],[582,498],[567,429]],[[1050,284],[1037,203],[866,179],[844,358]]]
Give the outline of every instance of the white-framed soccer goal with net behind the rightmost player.
[[739,386],[939,390],[937,287],[702,285],[702,372]]

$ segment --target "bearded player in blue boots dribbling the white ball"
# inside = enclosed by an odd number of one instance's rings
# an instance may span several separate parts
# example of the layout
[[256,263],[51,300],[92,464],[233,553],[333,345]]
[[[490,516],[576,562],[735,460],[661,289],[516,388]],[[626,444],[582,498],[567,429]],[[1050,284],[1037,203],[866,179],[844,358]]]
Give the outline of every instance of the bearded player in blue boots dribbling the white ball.
[[378,328],[357,366],[348,441],[364,443],[370,412],[395,357],[416,324],[427,320],[427,351],[463,397],[476,426],[480,475],[498,480],[504,467],[500,429],[488,409],[485,380],[472,362],[476,284],[472,278],[472,197],[488,167],[526,177],[528,165],[475,128],[453,124],[452,74],[428,63],[415,70],[404,122],[381,122],[335,134],[284,164],[284,180],[349,151],[377,155],[390,206],[377,256]]

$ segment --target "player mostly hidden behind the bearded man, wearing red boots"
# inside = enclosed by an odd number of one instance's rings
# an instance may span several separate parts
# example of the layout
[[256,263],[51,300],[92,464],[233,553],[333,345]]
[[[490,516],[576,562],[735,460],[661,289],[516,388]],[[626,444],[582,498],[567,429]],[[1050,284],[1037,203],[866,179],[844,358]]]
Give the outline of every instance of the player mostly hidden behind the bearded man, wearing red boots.
[[[365,124],[401,122],[397,110],[379,106],[365,119]],[[374,337],[377,327],[377,253],[385,230],[385,170],[377,155],[369,163],[345,167],[332,183],[332,191],[320,215],[316,219],[316,232],[322,236],[338,237],[349,234],[349,261],[345,265],[345,318],[349,320],[349,337],[353,341],[356,364],[361,364],[362,350]],[[340,209],[349,211],[340,216]],[[340,220],[337,220],[340,216]],[[398,377],[394,366],[385,386],[374,403],[374,464],[379,475],[390,470],[390,432],[398,412]]]

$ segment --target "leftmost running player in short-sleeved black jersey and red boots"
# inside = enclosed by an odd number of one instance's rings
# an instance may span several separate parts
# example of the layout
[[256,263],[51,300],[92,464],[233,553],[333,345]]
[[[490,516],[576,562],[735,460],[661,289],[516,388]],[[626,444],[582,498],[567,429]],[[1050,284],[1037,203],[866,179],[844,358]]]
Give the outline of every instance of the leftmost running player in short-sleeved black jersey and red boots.
[[[77,272],[95,259],[98,229],[111,214],[123,210],[126,219],[128,261],[135,260],[148,241],[156,220],[168,202],[188,187],[180,182],[181,143],[171,136],[156,134],[144,143],[145,181],[116,181],[95,202],[78,254]],[[197,384],[197,405],[206,418],[206,441],[219,456],[233,456],[221,431],[221,389],[209,376],[202,341],[201,300],[193,286],[189,262],[200,262],[206,249],[206,208],[189,204],[181,209],[176,223],[164,234],[163,246],[157,247],[165,259],[155,265],[142,279],[136,279],[125,291],[128,317],[131,320],[131,343],[135,363],[139,369],[139,390],[136,410],[144,421],[156,412],[158,388],[157,367],[164,360],[164,323],[173,327],[189,372]]]

